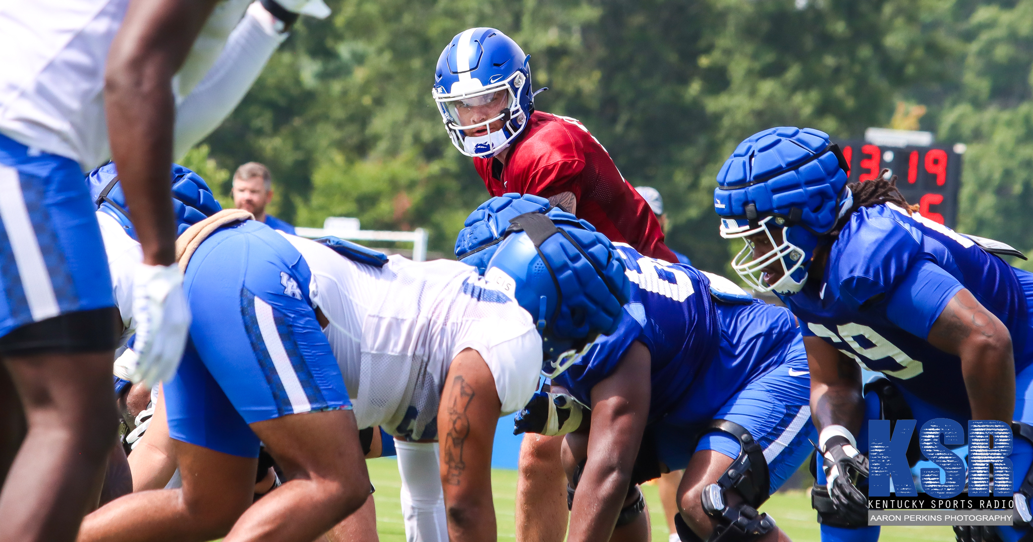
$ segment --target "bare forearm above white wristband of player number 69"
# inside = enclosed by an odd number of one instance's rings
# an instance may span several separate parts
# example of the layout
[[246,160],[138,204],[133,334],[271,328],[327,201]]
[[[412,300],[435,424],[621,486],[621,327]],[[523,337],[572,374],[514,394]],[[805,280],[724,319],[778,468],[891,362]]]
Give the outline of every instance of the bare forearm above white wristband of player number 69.
[[805,337],[811,370],[811,416],[818,431],[843,425],[857,435],[865,416],[860,365],[818,337]]

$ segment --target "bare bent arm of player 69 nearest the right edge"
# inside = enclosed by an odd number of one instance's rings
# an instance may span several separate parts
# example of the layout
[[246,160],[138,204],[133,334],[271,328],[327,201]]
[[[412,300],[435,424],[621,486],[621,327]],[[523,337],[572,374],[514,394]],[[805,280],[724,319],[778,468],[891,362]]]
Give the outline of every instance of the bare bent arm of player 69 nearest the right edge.
[[962,358],[972,419],[1011,422],[1015,360],[1011,333],[1003,322],[962,289],[933,323],[928,341]]

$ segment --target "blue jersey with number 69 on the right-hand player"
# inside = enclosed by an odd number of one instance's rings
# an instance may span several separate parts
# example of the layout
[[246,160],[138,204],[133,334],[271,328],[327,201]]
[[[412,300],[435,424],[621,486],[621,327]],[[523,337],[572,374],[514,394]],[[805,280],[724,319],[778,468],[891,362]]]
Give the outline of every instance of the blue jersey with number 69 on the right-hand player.
[[804,333],[962,418],[970,413],[961,359],[927,341],[962,288],[1007,326],[1016,373],[1033,360],[1033,275],[918,214],[891,203],[858,210],[833,244],[822,279],[781,296],[806,323]]

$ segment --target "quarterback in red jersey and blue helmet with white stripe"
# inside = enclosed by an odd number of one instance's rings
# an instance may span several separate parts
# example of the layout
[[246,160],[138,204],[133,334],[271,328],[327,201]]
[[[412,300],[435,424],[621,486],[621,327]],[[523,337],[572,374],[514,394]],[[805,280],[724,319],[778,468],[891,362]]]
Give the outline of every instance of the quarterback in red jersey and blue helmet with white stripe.
[[452,39],[438,60],[434,87],[452,144],[473,157],[492,196],[547,197],[612,241],[677,262],[649,204],[588,129],[569,117],[534,110],[529,58],[491,28]]

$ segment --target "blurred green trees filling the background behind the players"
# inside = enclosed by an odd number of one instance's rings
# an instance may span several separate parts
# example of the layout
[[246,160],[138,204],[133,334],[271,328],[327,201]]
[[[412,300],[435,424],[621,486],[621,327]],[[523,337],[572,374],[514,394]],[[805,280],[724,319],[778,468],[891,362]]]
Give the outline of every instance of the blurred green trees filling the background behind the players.
[[[633,185],[663,193],[668,244],[725,269],[714,178],[734,146],[776,125],[857,137],[896,102],[969,142],[962,228],[1033,247],[1033,0],[340,0],[303,19],[207,144],[218,167],[270,166],[279,216],[319,226],[431,231],[449,253],[487,198],[430,95],[442,47],[494,26],[532,55],[539,109],[580,119]],[[228,176],[215,183],[228,193]],[[1025,214],[1028,215],[1028,214]]]

